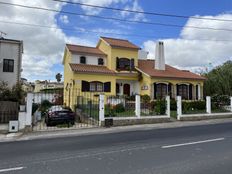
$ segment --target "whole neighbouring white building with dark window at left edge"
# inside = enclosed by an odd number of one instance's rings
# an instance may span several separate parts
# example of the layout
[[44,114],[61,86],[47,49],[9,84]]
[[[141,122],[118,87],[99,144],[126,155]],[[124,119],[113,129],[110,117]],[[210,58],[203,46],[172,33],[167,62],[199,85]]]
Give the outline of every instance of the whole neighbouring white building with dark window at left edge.
[[23,42],[0,37],[0,81],[12,87],[20,82]]

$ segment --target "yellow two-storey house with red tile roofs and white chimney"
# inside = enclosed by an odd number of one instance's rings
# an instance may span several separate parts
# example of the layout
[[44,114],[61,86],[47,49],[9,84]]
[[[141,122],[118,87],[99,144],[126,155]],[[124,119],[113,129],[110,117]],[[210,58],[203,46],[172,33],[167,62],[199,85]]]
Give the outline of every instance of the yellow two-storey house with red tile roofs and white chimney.
[[156,47],[156,60],[128,40],[100,37],[96,47],[66,44],[64,103],[73,107],[77,96],[86,94],[170,95],[186,100],[203,97],[204,77],[165,65],[163,42]]

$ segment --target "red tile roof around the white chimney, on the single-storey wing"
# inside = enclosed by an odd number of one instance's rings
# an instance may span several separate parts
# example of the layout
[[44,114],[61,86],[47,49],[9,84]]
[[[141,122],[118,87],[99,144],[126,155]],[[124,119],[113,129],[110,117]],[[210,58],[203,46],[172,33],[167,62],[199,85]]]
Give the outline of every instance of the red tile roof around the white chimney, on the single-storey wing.
[[169,65],[165,65],[165,68],[165,70],[154,69],[154,60],[139,60],[138,62],[138,69],[151,77],[205,80],[204,77],[190,71],[179,70]]

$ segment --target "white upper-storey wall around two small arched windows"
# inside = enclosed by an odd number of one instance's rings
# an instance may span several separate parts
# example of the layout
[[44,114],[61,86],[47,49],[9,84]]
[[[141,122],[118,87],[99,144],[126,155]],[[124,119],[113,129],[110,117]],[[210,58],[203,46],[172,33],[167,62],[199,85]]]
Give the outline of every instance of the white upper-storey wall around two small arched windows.
[[78,55],[78,54],[73,54],[72,55],[72,61],[71,63],[80,63],[80,57],[85,56],[86,57],[86,64],[89,65],[98,65],[98,58],[103,58],[104,59],[104,65],[107,65],[106,63],[106,58],[105,57],[100,57],[100,56],[86,56],[86,55]]

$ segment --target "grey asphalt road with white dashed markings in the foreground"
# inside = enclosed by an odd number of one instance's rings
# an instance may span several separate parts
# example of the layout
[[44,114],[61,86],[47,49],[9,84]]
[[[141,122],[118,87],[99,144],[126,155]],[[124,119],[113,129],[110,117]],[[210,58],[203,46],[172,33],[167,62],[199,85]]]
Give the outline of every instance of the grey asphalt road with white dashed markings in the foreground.
[[0,143],[0,174],[232,173],[232,123]]

